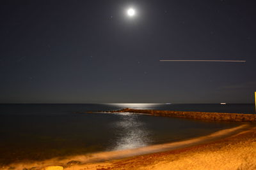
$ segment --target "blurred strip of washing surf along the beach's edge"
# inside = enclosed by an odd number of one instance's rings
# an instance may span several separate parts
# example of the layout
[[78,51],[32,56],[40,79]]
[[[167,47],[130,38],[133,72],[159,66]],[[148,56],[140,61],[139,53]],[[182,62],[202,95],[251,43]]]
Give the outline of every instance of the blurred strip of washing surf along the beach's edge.
[[[15,167],[16,169],[33,168],[42,169],[47,166],[63,166],[65,169],[80,169],[88,167],[93,169],[93,166],[99,166],[101,164],[112,164],[111,162],[121,161],[129,159],[131,157],[141,157],[143,155],[152,155],[164,152],[175,152],[176,150],[182,150],[184,148],[195,147],[198,145],[205,145],[205,143],[212,143],[216,140],[228,138],[242,131],[248,131],[248,129],[253,128],[251,124],[243,124],[238,127],[233,127],[230,129],[224,129],[221,131],[214,132],[207,136],[201,136],[198,138],[188,139],[185,141],[178,141],[173,143],[165,143],[161,145],[151,145],[141,148],[134,148],[129,150],[117,150],[111,152],[99,152],[86,155],[76,155],[66,158],[54,158],[49,160],[44,160],[40,162],[20,162],[16,164],[10,164],[9,166],[2,167],[3,169],[9,169],[10,167]],[[102,163],[104,162],[104,163]],[[97,168],[96,168],[97,169]]]

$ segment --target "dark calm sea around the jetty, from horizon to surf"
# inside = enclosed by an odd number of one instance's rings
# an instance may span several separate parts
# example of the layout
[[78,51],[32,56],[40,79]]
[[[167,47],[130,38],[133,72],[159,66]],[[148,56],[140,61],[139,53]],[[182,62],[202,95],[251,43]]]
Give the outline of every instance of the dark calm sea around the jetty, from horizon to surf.
[[239,124],[134,114],[121,108],[253,113],[253,104],[0,104],[0,163],[43,160],[195,138]]

